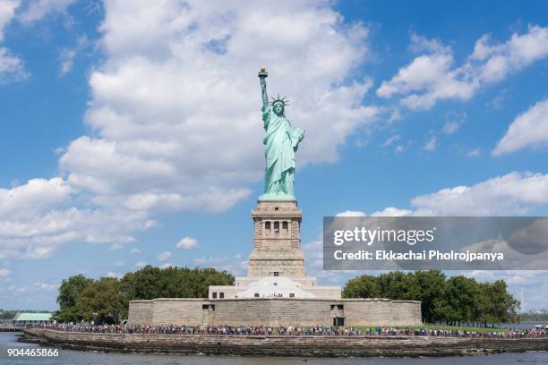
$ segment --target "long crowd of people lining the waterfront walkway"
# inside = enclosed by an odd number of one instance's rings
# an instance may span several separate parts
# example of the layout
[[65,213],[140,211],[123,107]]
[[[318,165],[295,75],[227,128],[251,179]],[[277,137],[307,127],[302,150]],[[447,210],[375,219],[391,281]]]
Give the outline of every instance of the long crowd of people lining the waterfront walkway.
[[548,328],[517,329],[507,331],[493,328],[489,331],[434,329],[409,327],[267,327],[267,326],[181,326],[181,325],[92,325],[54,323],[41,325],[63,331],[80,331],[110,334],[157,335],[366,335],[366,336],[442,336],[477,338],[535,338],[548,337]]

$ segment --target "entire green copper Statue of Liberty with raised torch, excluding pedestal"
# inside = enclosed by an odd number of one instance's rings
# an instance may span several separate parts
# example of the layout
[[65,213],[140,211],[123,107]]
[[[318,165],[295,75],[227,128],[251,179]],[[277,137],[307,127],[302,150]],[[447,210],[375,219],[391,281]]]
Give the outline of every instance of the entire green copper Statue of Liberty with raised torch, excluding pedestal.
[[259,72],[262,96],[262,121],[265,135],[264,194],[260,200],[295,200],[293,182],[295,179],[295,152],[304,138],[304,130],[292,129],[286,118],[286,98],[269,97],[266,91],[268,73],[264,68]]

